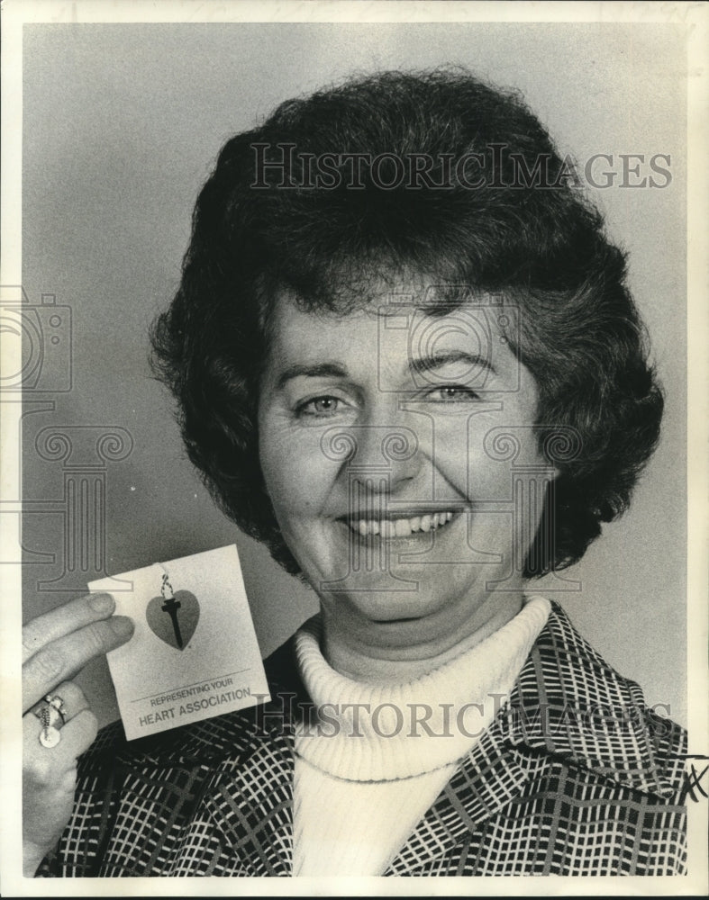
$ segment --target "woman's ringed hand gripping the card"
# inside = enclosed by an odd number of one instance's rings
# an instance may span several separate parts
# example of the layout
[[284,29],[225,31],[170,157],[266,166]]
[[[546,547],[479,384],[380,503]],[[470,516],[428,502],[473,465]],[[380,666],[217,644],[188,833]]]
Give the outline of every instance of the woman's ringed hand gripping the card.
[[[92,594],[52,609],[23,627],[26,877],[35,874],[68,823],[74,803],[77,756],[88,749],[96,736],[96,717],[83,691],[70,679],[86,662],[125,644],[133,633],[131,619],[113,617],[114,608],[114,599],[107,594]],[[43,699],[47,694],[54,698],[53,709]],[[35,714],[35,707],[44,710],[43,722]]]

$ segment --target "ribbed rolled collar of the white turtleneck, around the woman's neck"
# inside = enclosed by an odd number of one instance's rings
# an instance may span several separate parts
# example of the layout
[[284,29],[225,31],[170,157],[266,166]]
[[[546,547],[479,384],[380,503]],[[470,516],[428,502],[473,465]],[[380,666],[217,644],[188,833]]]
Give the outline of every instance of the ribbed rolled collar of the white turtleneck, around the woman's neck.
[[313,715],[295,730],[295,752],[352,781],[390,781],[461,760],[504,705],[550,613],[543,597],[484,641],[421,678],[373,685],[334,671],[320,650],[321,622],[295,635],[295,657]]

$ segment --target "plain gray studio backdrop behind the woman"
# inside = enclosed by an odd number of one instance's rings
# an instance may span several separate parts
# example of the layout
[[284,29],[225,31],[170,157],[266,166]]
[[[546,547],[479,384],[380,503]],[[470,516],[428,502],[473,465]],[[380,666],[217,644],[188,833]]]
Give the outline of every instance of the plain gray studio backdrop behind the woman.
[[[667,24],[25,26],[23,287],[73,315],[72,389],[42,395],[55,410],[24,419],[24,495],[48,502],[25,517],[23,545],[57,557],[28,554],[25,617],[77,593],[39,590],[62,572],[66,532],[62,464],[34,450],[49,425],[120,426],[134,440],[105,470],[108,573],[235,541],[264,655],[314,611],[313,594],[214,509],[186,462],[150,378],[146,329],[177,285],[196,193],[232,133],[345,74],[460,63],[519,88],[581,162],[671,155],[665,189],[591,192],[630,251],[668,406],[631,512],[564,573],[582,590],[553,596],[650,703],[686,722],[684,41]],[[545,584],[555,586],[532,590]],[[105,662],[83,683],[101,721],[113,718]]]

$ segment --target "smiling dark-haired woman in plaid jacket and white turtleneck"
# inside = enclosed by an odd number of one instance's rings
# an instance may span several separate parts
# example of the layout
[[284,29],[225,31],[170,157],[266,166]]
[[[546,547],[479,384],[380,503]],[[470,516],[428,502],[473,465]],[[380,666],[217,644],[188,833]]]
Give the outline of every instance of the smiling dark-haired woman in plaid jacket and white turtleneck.
[[232,138],[155,361],[214,499],[321,614],[270,703],[130,744],[94,742],[69,680],[130,622],[110,598],[34,620],[26,871],[683,871],[681,729],[526,589],[659,435],[624,275],[539,121],[466,72]]

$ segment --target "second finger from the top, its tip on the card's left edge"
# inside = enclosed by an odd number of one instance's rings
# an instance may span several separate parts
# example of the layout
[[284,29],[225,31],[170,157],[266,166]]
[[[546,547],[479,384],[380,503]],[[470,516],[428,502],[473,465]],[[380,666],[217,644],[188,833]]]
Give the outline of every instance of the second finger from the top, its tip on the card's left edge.
[[23,710],[33,707],[60,681],[72,678],[95,656],[125,644],[132,633],[130,618],[112,616],[42,647],[23,665]]

